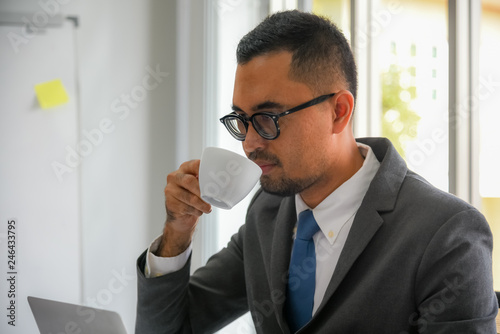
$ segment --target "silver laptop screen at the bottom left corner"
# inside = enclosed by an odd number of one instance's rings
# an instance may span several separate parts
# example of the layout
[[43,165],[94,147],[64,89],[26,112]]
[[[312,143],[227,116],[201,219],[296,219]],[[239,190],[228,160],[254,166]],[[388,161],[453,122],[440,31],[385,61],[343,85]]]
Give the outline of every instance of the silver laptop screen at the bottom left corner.
[[40,334],[127,334],[120,315],[113,311],[28,297]]

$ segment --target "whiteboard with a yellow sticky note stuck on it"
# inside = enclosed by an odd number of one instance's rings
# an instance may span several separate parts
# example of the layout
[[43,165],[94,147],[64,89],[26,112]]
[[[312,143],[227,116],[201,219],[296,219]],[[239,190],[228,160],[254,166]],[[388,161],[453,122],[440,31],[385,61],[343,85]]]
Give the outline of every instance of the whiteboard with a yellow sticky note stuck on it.
[[[27,296],[81,301],[79,170],[60,180],[53,169],[54,162],[65,164],[68,147],[78,143],[75,27],[68,21],[25,32],[30,38],[22,29],[0,26],[0,333],[5,334],[37,333]],[[17,47],[13,34],[25,37]],[[61,79],[69,102],[42,109],[34,86],[54,79]],[[10,232],[9,225],[15,225]],[[15,322],[9,324],[12,300]]]

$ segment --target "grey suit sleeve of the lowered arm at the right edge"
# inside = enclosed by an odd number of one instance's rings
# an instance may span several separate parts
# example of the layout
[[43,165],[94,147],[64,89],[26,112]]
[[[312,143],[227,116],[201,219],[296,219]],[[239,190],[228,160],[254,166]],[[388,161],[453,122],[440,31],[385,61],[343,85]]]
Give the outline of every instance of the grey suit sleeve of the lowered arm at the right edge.
[[498,303],[492,280],[492,235],[474,209],[454,215],[434,235],[419,265],[420,333],[496,333]]

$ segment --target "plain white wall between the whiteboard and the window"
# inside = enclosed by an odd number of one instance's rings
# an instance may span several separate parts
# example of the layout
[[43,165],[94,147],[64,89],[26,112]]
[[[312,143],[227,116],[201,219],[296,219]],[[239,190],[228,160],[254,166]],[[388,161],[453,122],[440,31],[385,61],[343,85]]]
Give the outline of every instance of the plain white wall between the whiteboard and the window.
[[[133,333],[135,260],[161,232],[165,177],[177,167],[176,2],[2,0],[0,11],[33,13],[40,3],[80,20],[80,133],[114,124],[80,165],[81,302],[117,311]],[[151,91],[141,88],[146,68],[168,73],[147,79]]]

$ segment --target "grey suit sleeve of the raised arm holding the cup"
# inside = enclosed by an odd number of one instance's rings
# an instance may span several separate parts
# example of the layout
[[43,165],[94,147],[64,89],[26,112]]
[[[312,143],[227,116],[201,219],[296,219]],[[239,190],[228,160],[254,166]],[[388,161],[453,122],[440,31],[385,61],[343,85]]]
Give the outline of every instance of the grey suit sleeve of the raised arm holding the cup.
[[213,333],[244,314],[244,229],[192,276],[189,259],[177,272],[146,278],[143,253],[137,261],[136,333]]

